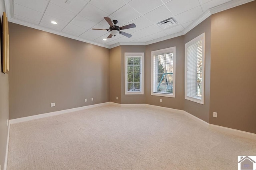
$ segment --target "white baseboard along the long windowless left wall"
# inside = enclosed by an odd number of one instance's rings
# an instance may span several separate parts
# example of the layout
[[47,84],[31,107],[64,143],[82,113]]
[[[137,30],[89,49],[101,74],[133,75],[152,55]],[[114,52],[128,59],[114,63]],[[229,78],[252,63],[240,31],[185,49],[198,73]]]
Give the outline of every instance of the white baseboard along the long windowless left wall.
[[43,118],[43,117],[49,117],[49,116],[54,116],[54,115],[61,115],[61,114],[64,114],[64,113],[70,113],[70,112],[73,112],[73,111],[80,111],[80,110],[84,110],[84,109],[90,109],[90,108],[93,108],[93,107],[106,106],[106,105],[109,105],[109,102],[94,104],[94,105],[89,105],[89,106],[76,107],[76,108],[60,110],[60,111],[53,111],[53,112],[50,112],[50,113],[43,113],[43,114],[39,114],[39,115],[21,117],[21,118],[17,118],[17,119],[11,119],[10,124],[20,123],[20,122],[23,122],[23,121],[29,121],[29,120],[34,120],[34,119],[40,119],[40,118]]

